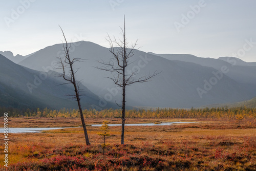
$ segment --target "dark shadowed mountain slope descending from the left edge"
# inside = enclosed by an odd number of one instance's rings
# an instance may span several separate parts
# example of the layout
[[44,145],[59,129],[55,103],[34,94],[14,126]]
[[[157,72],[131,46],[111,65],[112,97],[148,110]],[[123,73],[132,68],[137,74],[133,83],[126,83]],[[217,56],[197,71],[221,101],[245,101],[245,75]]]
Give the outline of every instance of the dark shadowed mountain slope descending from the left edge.
[[[66,95],[73,95],[71,84],[63,84],[57,73],[46,73],[16,65],[0,55],[0,105],[14,108],[77,108],[76,101]],[[91,108],[100,100],[81,85],[83,108]]]

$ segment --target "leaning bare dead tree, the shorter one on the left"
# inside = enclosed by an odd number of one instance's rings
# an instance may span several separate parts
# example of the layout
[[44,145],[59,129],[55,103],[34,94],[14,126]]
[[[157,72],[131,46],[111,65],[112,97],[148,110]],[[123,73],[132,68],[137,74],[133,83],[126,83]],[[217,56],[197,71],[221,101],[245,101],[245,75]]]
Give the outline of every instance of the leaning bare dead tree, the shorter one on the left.
[[[61,27],[60,27],[60,29],[61,29]],[[68,83],[73,84],[73,86],[74,86],[74,89],[75,89],[74,98],[76,99],[77,104],[78,104],[80,117],[81,117],[81,121],[82,121],[84,137],[86,138],[86,145],[90,145],[89,137],[88,137],[87,129],[86,129],[86,124],[84,123],[84,118],[83,118],[83,113],[82,113],[82,108],[81,108],[81,103],[80,103],[80,95],[79,95],[80,82],[75,79],[75,73],[77,72],[77,70],[74,71],[74,67],[73,67],[75,62],[80,62],[82,59],[70,57],[69,52],[70,52],[71,44],[70,44],[70,46],[68,45],[67,39],[66,39],[65,34],[62,29],[61,29],[61,32],[62,32],[64,40],[65,40],[65,42],[63,42],[63,49],[65,52],[65,56],[63,57],[63,59],[60,56],[57,57],[59,59],[59,65],[60,65],[59,69],[62,69],[62,73],[63,73],[63,74],[60,74],[59,76],[63,77],[63,79],[68,81]],[[71,96],[73,96],[73,95],[71,95]]]

